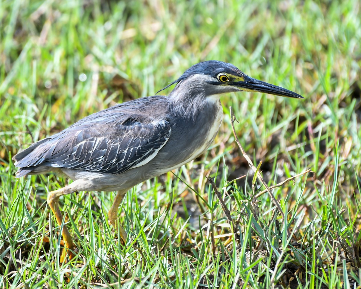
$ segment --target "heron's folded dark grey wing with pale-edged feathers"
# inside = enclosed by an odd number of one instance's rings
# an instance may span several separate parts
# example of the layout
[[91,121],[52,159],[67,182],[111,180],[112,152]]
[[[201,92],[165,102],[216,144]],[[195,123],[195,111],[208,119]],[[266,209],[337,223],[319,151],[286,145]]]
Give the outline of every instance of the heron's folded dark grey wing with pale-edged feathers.
[[16,166],[119,174],[153,159],[168,141],[170,130],[165,119],[156,121],[134,114],[116,122],[83,122],[29,147],[29,154],[21,152],[22,158],[15,158]]

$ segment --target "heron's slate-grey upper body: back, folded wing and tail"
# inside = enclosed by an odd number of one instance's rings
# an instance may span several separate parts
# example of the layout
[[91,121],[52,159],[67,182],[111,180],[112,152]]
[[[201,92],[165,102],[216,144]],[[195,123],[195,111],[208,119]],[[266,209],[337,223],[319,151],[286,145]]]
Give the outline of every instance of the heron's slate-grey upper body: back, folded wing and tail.
[[21,167],[17,175],[37,172],[39,165],[92,173],[125,172],[168,141],[170,123],[163,113],[148,116],[142,109],[154,110],[164,104],[168,105],[165,98],[153,96],[85,117],[16,155],[16,165]]

